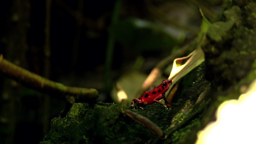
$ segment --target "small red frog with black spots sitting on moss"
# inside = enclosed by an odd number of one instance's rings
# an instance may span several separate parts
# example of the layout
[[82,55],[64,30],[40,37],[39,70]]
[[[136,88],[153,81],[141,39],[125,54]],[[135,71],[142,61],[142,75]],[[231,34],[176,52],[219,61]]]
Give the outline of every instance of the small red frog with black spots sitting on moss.
[[160,102],[159,100],[163,98],[166,106],[171,109],[171,105],[165,98],[165,92],[168,90],[172,83],[172,80],[163,80],[161,85],[157,86],[156,88],[150,91],[146,91],[142,96],[140,96],[140,98],[132,99],[131,108],[142,107],[144,105],[153,104],[154,102],[162,104],[162,102]]

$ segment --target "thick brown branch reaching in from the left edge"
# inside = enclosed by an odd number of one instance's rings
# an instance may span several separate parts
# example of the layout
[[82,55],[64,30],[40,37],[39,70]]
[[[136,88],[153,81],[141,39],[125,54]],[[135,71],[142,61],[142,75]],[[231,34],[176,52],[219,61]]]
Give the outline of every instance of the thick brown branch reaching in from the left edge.
[[[35,73],[25,70],[24,68],[12,64],[11,62],[5,60],[3,55],[0,55],[0,73],[22,83],[25,86],[36,89],[37,91],[54,94],[55,96],[65,98],[72,103],[74,101],[91,101],[98,98],[98,91],[96,89],[64,86],[62,83],[48,80]],[[71,98],[70,95],[73,98]],[[70,99],[72,99],[72,101],[70,101]]]

